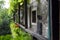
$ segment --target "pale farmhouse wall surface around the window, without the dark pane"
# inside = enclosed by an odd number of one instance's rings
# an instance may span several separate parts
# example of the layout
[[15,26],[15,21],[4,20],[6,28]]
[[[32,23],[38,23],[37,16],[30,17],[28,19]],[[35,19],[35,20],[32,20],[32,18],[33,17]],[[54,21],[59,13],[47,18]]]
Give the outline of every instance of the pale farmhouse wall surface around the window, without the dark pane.
[[[38,21],[37,15],[41,15],[42,20],[40,20],[40,21],[42,21],[42,35],[44,37],[48,38],[48,26],[49,26],[48,25],[49,24],[49,21],[48,21],[48,19],[49,19],[48,1],[47,0],[40,0],[40,5],[38,5],[38,2],[36,0],[30,0],[30,1],[31,1],[30,6],[32,7],[31,14],[32,14],[32,11],[36,10],[36,23],[34,24],[31,22],[32,23],[31,30],[34,32],[37,31],[37,27],[38,27],[37,26],[37,21]],[[38,13],[38,9],[37,9],[38,6],[40,7],[39,13]],[[29,11],[28,11],[28,20],[29,20]],[[30,23],[30,22],[28,21],[28,23]],[[28,24],[28,26],[30,26],[30,25]]]

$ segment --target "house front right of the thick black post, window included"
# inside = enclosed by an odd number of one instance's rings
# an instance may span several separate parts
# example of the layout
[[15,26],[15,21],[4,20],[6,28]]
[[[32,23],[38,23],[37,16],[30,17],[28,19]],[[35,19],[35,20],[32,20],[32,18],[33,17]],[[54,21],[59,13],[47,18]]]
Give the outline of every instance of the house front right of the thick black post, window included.
[[[40,10],[38,9],[38,7],[40,8]],[[32,30],[33,32],[40,33],[44,37],[48,38],[48,27],[49,27],[48,1],[40,0],[40,4],[39,4],[38,1],[31,0],[30,5],[28,5],[28,10],[29,10],[28,28],[30,27],[29,23],[31,22],[32,27],[29,28],[30,30]],[[29,21],[30,17],[31,17],[31,21]]]

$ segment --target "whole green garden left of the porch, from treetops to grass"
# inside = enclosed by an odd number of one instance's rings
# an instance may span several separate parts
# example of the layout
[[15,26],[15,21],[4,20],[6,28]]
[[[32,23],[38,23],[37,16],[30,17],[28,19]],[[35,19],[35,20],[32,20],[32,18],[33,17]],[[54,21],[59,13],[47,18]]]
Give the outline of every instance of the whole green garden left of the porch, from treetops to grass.
[[[32,40],[32,36],[19,28],[11,19],[17,11],[18,2],[22,0],[0,1],[0,40]],[[10,7],[5,3],[8,2]],[[6,6],[4,6],[6,5]]]

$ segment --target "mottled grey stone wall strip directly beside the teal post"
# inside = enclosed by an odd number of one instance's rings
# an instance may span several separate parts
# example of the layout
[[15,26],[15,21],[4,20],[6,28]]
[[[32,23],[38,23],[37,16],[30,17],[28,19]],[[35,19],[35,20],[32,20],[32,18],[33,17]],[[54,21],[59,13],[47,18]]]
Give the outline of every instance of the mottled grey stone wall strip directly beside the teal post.
[[40,14],[42,15],[42,35],[48,38],[48,1],[41,0],[40,3]]

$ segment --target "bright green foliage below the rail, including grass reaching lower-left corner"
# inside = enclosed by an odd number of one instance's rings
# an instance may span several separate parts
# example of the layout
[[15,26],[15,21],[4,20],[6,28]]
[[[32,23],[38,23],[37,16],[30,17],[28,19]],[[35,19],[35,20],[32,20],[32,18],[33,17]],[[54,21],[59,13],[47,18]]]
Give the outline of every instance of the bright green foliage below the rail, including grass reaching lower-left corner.
[[12,34],[2,35],[0,36],[0,40],[32,40],[31,35],[16,27],[14,22],[10,23],[10,28]]

